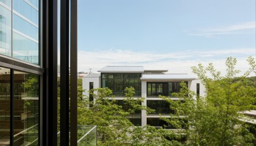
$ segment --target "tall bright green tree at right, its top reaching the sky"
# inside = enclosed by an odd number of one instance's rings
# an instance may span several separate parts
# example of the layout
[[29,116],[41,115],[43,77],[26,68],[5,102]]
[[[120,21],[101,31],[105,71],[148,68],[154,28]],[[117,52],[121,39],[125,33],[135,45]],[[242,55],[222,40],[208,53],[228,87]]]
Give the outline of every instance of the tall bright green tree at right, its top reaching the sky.
[[[175,127],[187,127],[187,145],[253,145],[252,133],[246,132],[244,111],[255,109],[256,88],[248,84],[248,75],[256,71],[255,59],[247,59],[251,66],[241,77],[235,69],[236,59],[229,57],[226,61],[226,75],[216,71],[210,63],[205,68],[202,64],[193,66],[192,71],[206,88],[206,97],[196,97],[182,83],[182,89],[173,96],[180,97],[174,102],[162,97],[170,103],[175,114],[165,119]],[[208,77],[210,73],[212,77]],[[235,79],[234,79],[235,78]],[[180,120],[182,117],[182,120]]]

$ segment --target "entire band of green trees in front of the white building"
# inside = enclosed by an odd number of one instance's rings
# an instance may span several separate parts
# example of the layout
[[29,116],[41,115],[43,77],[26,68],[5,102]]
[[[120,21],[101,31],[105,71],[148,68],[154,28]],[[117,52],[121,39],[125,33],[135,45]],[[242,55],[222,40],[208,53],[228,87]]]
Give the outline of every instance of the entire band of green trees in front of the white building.
[[[150,113],[152,109],[141,106],[143,98],[133,98],[133,88],[126,88],[124,104],[129,105],[126,110],[116,104],[108,88],[90,91],[94,97],[92,106],[88,97],[82,97],[80,93],[78,123],[98,126],[98,145],[253,145],[254,134],[249,132],[244,122],[246,117],[242,114],[256,109],[255,77],[248,77],[256,71],[256,64],[252,57],[247,61],[251,68],[239,77],[240,71],[235,69],[236,59],[232,57],[227,58],[226,75],[216,71],[212,63],[207,67],[202,64],[193,66],[192,71],[206,88],[206,97],[196,96],[185,83],[180,84],[180,92],[172,94],[180,100],[160,96],[174,111],[170,117],[162,119],[182,130],[134,126],[127,116],[132,116],[136,110],[144,109]],[[209,73],[212,77],[207,76]],[[82,91],[79,87],[79,92]],[[179,142],[184,135],[186,141]]]

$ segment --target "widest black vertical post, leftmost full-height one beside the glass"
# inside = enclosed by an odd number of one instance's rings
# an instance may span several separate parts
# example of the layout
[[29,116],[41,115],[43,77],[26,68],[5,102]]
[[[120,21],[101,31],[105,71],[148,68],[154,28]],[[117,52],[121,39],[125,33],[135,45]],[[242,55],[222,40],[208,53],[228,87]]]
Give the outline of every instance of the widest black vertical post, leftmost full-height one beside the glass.
[[43,139],[40,145],[57,145],[57,0],[43,0],[41,48],[43,52],[43,121],[41,128]]

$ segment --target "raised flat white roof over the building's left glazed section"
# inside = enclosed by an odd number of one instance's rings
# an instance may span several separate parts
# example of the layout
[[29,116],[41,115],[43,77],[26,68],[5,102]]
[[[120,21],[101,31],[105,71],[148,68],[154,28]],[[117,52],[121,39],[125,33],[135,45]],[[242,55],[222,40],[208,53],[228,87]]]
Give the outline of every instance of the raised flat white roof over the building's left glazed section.
[[144,72],[143,66],[105,66],[98,72]]

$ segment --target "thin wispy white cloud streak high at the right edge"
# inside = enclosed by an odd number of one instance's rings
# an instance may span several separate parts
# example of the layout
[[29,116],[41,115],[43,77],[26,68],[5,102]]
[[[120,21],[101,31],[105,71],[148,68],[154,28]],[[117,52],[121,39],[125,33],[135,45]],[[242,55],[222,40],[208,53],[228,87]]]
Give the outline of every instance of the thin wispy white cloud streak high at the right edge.
[[255,33],[256,23],[254,21],[236,24],[233,26],[213,28],[213,29],[202,29],[188,35],[212,37],[215,35],[239,35],[239,34],[251,34]]

